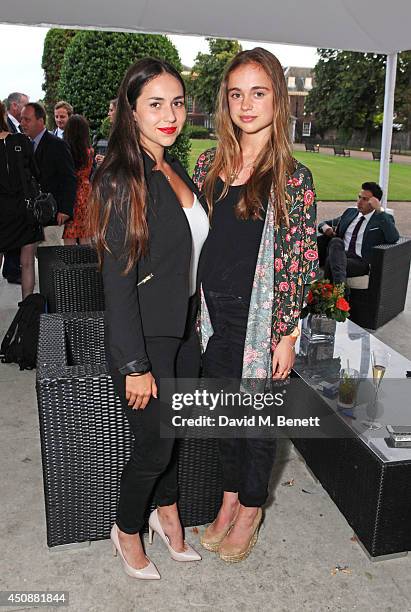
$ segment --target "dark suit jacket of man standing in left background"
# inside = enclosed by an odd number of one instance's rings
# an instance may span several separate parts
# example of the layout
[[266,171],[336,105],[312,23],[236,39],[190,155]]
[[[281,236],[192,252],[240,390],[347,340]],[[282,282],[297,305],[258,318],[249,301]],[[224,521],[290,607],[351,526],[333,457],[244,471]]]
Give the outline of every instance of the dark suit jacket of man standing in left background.
[[68,144],[46,130],[34,158],[39,169],[42,189],[54,195],[58,212],[73,217],[77,178]]

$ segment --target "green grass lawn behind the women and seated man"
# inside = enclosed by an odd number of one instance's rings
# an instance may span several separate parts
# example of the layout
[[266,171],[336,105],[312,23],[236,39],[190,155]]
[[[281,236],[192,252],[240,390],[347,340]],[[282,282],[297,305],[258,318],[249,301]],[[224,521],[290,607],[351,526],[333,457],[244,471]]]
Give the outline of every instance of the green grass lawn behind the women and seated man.
[[[215,140],[192,140],[190,171],[205,149],[215,147]],[[379,164],[365,159],[331,157],[321,153],[297,151],[296,158],[313,173],[319,200],[355,200],[364,181],[377,181]],[[411,164],[390,164],[391,201],[411,201]]]

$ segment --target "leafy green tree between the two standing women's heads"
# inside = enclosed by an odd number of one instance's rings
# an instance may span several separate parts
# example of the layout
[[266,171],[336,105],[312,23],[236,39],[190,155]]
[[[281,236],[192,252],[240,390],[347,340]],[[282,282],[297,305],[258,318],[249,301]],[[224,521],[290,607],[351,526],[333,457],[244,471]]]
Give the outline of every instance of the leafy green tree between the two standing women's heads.
[[189,91],[203,110],[214,112],[217,92],[228,62],[241,51],[238,40],[207,38],[209,53],[198,53],[191,71]]

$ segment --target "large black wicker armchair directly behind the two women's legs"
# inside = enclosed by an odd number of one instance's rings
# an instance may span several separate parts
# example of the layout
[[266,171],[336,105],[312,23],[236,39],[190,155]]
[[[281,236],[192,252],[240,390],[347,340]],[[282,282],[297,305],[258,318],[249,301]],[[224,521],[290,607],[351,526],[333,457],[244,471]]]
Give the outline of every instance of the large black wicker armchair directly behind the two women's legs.
[[[105,363],[104,314],[42,315],[37,361],[48,546],[107,538],[132,435]],[[222,496],[216,440],[177,444],[182,522],[210,522]]]

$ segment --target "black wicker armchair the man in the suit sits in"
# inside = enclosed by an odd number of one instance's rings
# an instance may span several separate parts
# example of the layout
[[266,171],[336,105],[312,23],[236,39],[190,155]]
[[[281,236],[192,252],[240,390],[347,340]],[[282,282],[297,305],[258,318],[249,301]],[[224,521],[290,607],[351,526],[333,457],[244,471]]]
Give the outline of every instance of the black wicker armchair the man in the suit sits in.
[[[327,236],[317,236],[320,265],[324,264]],[[411,238],[380,244],[372,250],[370,274],[347,279],[350,319],[367,329],[378,329],[404,310],[411,260]]]

